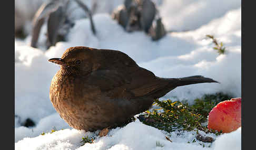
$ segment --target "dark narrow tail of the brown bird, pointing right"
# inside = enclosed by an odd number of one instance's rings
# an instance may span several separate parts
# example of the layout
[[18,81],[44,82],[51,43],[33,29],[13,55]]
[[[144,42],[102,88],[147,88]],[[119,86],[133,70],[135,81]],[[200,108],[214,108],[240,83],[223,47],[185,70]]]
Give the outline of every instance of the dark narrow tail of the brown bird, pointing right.
[[196,83],[212,83],[218,81],[215,81],[211,78],[204,78],[203,76],[190,76],[190,77],[184,77],[184,78],[168,78],[168,80],[171,80],[170,84],[176,85],[176,87],[180,87],[182,85],[189,85],[189,84],[196,84]]

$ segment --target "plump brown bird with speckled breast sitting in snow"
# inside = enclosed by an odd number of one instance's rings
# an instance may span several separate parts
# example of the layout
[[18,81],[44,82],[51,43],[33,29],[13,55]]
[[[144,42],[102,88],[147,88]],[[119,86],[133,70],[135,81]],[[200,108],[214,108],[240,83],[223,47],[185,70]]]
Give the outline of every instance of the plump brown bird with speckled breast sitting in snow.
[[154,99],[176,87],[217,82],[202,76],[160,78],[117,50],[70,47],[52,79],[50,99],[73,128],[85,131],[119,126],[148,110]]

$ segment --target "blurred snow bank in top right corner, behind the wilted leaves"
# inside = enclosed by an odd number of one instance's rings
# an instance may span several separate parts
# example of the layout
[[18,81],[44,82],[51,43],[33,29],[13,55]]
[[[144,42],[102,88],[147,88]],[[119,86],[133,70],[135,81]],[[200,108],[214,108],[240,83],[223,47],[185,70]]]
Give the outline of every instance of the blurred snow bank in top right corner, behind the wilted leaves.
[[160,6],[160,16],[163,16],[168,30],[193,30],[239,7],[240,0],[164,1]]

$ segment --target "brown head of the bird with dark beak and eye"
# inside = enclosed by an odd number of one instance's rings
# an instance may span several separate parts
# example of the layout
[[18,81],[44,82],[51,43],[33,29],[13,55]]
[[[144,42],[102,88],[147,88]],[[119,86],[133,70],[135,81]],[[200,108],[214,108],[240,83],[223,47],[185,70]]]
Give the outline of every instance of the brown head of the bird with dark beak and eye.
[[75,74],[87,74],[93,69],[93,48],[70,47],[61,58],[52,58],[48,61],[61,66],[61,69]]

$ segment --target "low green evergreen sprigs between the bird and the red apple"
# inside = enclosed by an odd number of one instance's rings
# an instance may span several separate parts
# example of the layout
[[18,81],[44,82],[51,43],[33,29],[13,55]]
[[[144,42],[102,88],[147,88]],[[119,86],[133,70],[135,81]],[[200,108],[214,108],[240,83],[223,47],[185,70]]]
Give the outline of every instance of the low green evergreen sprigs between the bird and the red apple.
[[146,111],[146,115],[139,117],[144,124],[166,132],[201,130],[220,135],[221,132],[210,131],[202,123],[207,121],[209,112],[216,104],[230,98],[230,95],[223,93],[206,94],[202,98],[195,99],[193,105],[189,105],[186,100],[174,102],[156,99],[154,105],[159,106],[160,109]]

